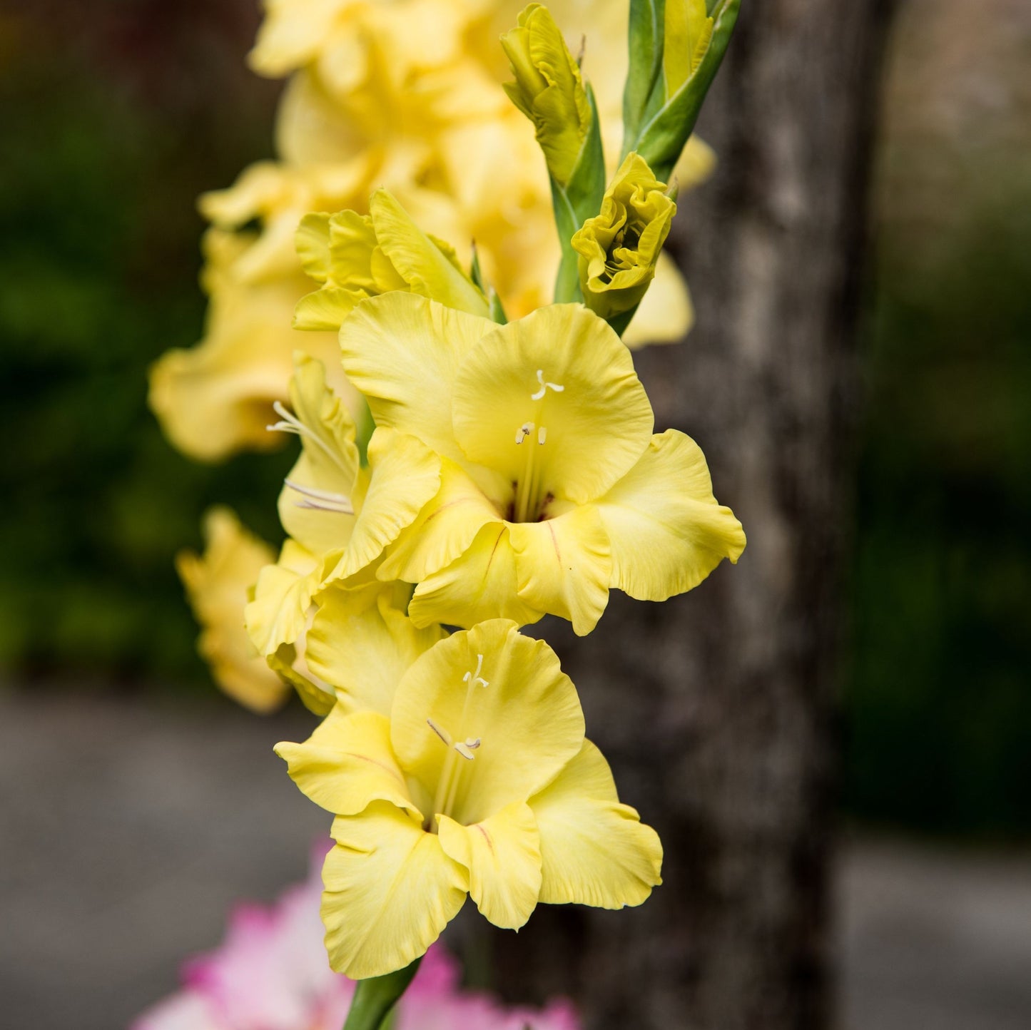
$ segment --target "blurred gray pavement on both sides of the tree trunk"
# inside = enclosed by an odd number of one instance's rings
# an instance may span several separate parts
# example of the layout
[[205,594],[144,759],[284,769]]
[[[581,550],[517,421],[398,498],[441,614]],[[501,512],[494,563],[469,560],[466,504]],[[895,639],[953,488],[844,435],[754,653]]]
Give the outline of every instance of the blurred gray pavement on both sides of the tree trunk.
[[[120,1030],[233,901],[301,878],[329,818],[271,747],[311,725],[0,691],[0,1026]],[[838,882],[842,1030],[1031,1028],[1031,853],[849,840]]]

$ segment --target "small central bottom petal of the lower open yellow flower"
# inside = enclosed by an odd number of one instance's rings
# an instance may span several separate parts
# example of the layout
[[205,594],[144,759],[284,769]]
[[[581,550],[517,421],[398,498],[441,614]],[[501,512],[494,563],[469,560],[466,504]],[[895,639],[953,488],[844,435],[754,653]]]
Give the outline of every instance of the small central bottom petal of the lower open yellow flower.
[[469,870],[469,896],[495,926],[518,930],[540,894],[540,839],[530,806],[516,801],[472,826],[440,817],[440,846]]

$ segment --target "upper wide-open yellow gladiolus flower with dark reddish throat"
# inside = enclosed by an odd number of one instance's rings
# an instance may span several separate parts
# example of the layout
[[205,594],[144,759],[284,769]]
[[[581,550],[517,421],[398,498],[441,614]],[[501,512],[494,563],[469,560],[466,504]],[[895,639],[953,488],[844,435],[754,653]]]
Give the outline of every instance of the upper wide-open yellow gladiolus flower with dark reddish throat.
[[552,612],[583,635],[610,588],[664,600],[744,549],[698,445],[653,435],[630,352],[583,305],[496,326],[391,293],[352,312],[340,345],[377,432],[441,460],[439,490],[376,572],[418,584],[417,625]]

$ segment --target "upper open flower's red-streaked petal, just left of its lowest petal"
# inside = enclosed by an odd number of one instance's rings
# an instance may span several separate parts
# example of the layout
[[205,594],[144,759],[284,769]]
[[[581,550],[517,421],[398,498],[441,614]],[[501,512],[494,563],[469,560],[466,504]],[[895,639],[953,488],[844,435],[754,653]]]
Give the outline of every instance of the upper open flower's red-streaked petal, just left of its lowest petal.
[[420,583],[408,614],[417,626],[437,622],[468,627],[498,618],[511,619],[520,626],[537,622],[543,609],[527,604],[518,589],[508,527],[488,523],[461,557]]

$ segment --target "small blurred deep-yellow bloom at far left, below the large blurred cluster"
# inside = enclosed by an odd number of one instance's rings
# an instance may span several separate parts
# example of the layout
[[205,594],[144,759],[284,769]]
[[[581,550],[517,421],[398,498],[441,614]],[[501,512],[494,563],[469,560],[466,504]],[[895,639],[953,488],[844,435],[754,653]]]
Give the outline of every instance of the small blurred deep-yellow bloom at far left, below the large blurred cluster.
[[207,512],[204,538],[203,555],[184,551],[175,559],[202,628],[197,649],[231,698],[254,711],[271,711],[286,701],[288,691],[247,639],[241,612],[262,566],[272,560],[272,550],[228,508]]

